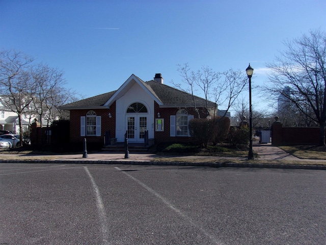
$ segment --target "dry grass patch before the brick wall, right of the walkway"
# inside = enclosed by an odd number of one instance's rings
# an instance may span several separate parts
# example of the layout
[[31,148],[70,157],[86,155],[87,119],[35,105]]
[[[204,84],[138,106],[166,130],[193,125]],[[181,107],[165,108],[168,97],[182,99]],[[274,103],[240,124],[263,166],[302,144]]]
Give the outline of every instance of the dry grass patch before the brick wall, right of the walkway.
[[326,160],[326,146],[291,145],[279,146],[279,148],[300,159]]

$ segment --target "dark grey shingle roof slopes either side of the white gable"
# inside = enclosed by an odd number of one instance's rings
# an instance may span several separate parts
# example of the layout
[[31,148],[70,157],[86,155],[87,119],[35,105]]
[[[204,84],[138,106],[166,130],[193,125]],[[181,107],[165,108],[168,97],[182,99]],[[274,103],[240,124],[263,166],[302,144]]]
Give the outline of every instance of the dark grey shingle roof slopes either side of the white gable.
[[[204,107],[206,105],[205,99],[194,96],[192,94],[186,93],[179,89],[170,87],[165,84],[158,83],[156,81],[148,81],[144,82],[139,79],[148,90],[159,100],[162,102],[163,107],[193,107],[194,99],[196,102],[196,106]],[[104,94],[100,94],[94,97],[90,97],[85,100],[73,102],[61,107],[61,109],[82,109],[82,108],[101,108],[105,102],[107,102],[116,92],[108,92]],[[215,104],[213,102],[208,102],[208,106],[213,107]]]

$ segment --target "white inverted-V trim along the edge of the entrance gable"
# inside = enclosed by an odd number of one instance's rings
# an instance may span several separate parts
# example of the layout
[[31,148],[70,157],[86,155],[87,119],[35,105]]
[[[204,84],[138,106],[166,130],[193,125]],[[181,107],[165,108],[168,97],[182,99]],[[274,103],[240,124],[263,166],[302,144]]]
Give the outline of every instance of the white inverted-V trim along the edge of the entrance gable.
[[127,81],[125,81],[124,84],[122,84],[121,87],[111,96],[111,98],[105,102],[103,106],[111,106],[112,103],[120,99],[132,87],[134,83],[138,83],[139,86],[141,86],[144,91],[147,92],[154,101],[156,101],[158,105],[163,105],[163,103],[157,99],[157,97],[146,87],[146,85],[144,85],[144,82],[132,74],[127,79]]

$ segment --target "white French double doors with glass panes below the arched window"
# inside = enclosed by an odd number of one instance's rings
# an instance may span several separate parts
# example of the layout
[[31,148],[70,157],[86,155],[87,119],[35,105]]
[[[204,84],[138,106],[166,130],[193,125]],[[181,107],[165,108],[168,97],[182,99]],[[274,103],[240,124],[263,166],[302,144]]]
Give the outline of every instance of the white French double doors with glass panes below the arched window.
[[144,142],[146,130],[146,115],[126,115],[126,131],[128,142]]

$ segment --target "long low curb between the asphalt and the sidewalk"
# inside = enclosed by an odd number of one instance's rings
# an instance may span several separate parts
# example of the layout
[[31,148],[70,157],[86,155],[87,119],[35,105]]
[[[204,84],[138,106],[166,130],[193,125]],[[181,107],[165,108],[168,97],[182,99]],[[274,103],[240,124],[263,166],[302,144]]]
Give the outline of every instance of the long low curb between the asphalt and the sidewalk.
[[164,161],[116,161],[116,160],[0,160],[0,163],[59,163],[59,164],[118,164],[118,165],[161,165],[197,167],[249,167],[282,169],[326,170],[324,165],[260,164],[260,163],[216,163],[216,162],[164,162]]

